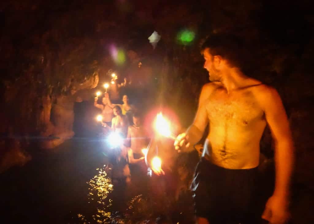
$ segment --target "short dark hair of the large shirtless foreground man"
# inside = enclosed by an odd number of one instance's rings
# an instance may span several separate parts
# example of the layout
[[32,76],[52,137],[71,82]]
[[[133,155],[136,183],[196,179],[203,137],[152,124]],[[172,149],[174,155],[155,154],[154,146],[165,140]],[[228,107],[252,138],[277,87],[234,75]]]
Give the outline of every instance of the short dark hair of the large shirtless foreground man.
[[242,68],[244,65],[244,43],[241,38],[232,34],[212,34],[203,43],[202,54],[206,48],[213,56],[219,55],[231,65]]

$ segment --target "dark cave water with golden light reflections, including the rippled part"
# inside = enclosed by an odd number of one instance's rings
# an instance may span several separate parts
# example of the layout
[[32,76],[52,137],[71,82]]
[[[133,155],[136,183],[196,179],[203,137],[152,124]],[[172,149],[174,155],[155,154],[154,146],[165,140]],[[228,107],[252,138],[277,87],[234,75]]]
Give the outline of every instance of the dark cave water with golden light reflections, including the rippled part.
[[[162,190],[163,177],[148,179],[158,190],[147,187],[125,201],[124,186],[108,178],[105,144],[98,138],[76,137],[53,151],[37,152],[24,167],[1,174],[1,218],[8,220],[2,223],[191,223],[186,215],[191,220],[192,202],[174,202]],[[117,211],[121,207],[127,210]]]

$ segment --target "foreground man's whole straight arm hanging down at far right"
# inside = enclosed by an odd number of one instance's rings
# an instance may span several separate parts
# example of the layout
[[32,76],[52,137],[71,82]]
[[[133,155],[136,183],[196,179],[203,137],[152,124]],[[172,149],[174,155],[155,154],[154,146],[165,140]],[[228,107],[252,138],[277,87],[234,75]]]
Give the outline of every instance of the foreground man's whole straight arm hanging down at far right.
[[290,179],[294,164],[292,135],[278,92],[266,86],[258,95],[275,142],[275,189],[266,204],[263,218],[271,223],[284,223],[287,219]]

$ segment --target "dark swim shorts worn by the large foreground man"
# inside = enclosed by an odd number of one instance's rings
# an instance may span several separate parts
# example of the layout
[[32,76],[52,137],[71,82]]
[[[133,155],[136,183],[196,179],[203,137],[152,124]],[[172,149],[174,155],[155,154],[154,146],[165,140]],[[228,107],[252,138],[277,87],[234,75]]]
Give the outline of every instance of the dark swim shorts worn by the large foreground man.
[[257,175],[257,167],[225,169],[202,158],[191,185],[196,216],[210,224],[259,223]]

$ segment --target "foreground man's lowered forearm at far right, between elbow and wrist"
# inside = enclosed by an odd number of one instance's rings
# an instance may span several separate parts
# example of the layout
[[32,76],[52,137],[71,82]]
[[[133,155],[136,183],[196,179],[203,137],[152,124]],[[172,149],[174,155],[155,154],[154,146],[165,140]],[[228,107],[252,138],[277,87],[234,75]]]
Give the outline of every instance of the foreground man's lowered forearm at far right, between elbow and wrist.
[[284,198],[289,197],[294,159],[294,146],[292,141],[288,140],[276,143],[276,180],[274,195]]

